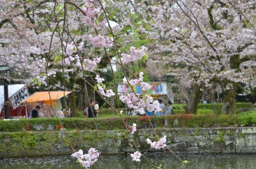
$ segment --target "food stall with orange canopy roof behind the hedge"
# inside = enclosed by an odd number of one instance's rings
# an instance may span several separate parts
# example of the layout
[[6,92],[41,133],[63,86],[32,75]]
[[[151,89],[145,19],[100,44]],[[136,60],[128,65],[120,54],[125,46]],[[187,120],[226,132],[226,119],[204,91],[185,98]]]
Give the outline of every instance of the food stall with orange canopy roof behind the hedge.
[[34,110],[37,105],[40,106],[40,110],[38,111],[39,117],[54,117],[54,111],[58,117],[62,117],[60,98],[70,93],[71,92],[69,91],[35,92],[22,102],[26,106],[27,118],[29,117],[30,112]]

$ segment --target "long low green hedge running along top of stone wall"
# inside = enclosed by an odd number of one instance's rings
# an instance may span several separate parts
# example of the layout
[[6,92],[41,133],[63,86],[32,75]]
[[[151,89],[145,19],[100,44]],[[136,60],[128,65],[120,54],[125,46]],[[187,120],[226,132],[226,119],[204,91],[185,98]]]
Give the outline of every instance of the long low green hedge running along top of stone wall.
[[[217,114],[174,114],[166,116],[150,116],[153,125],[162,127],[164,119],[168,120],[168,128],[200,128],[216,126],[250,126],[256,124],[256,113],[249,111],[241,114],[217,115]],[[149,121],[146,116],[125,116],[125,123],[132,126],[137,124],[137,128],[148,128]],[[93,118],[63,118],[61,122],[65,129],[74,130],[75,125],[79,130],[95,129]],[[74,123],[75,125],[74,125]],[[97,128],[99,130],[119,130],[125,129],[124,123],[120,118],[96,118]],[[0,122],[0,131],[35,131],[35,130],[60,130],[60,122],[57,118],[38,118],[38,119],[20,119]]]

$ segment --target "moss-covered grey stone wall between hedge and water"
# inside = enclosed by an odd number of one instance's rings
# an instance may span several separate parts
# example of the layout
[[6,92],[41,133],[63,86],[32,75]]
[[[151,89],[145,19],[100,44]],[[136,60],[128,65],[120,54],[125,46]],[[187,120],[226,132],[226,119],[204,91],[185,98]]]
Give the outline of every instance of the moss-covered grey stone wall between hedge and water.
[[[71,145],[77,151],[86,152],[86,148],[91,147],[102,154],[137,151],[126,130],[84,130],[79,133],[67,131]],[[167,136],[167,147],[175,153],[256,153],[256,127],[158,129],[156,133]],[[168,153],[166,148],[154,150],[147,144],[147,138],[153,139],[152,130],[137,130],[132,137],[141,152]],[[64,131],[0,133],[0,158],[71,154]]]

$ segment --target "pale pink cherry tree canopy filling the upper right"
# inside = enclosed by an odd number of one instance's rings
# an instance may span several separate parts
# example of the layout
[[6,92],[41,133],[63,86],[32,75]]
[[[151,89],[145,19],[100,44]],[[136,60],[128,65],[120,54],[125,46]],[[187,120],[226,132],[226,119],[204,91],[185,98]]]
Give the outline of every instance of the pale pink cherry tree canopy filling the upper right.
[[[117,2],[141,18],[152,74],[180,76],[185,86],[218,82],[225,96],[256,87],[256,2],[242,0],[147,0]],[[130,22],[132,24],[132,22]],[[171,65],[182,64],[183,68]],[[235,97],[233,92],[232,98]],[[229,101],[231,102],[231,101]]]

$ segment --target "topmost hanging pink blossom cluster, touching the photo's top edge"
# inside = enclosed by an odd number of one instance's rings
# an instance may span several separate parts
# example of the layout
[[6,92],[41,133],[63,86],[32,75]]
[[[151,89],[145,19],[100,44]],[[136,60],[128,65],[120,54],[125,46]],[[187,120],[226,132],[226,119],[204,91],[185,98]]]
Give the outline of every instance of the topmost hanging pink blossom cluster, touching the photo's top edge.
[[[106,17],[104,17],[103,19],[100,17],[103,9],[101,7],[95,6],[93,3],[91,3],[90,0],[84,0],[84,2],[86,7],[83,7],[82,9],[86,14],[84,21],[87,23],[87,25],[94,28],[104,27],[106,25],[107,19]],[[102,3],[102,7],[105,8],[104,2]]]

